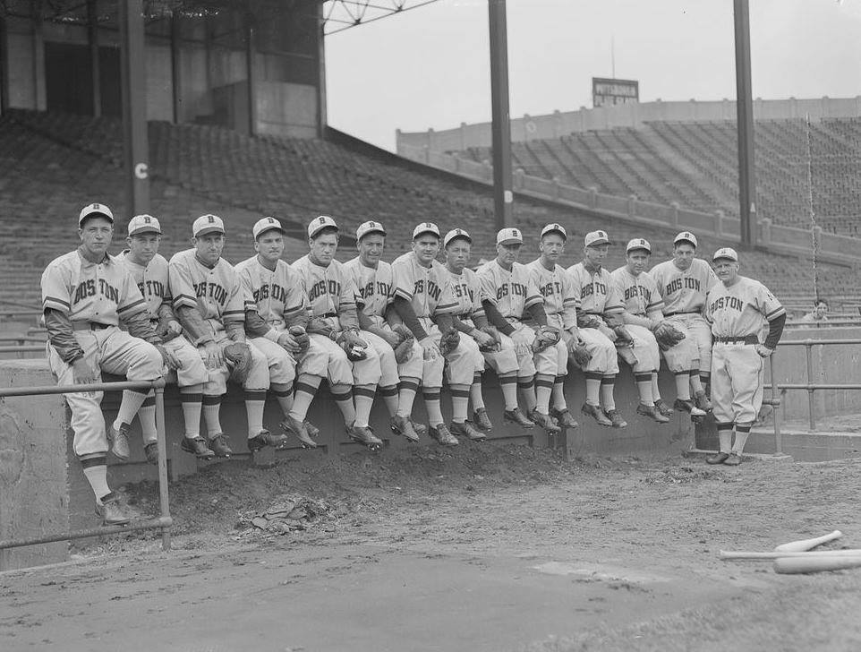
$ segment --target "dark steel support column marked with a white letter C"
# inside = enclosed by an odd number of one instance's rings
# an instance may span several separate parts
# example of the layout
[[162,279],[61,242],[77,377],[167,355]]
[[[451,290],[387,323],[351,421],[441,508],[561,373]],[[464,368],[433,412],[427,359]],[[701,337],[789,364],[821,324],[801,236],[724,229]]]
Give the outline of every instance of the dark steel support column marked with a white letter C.
[[119,0],[120,77],[123,87],[125,208],[130,215],[149,212],[146,56],[143,0]]

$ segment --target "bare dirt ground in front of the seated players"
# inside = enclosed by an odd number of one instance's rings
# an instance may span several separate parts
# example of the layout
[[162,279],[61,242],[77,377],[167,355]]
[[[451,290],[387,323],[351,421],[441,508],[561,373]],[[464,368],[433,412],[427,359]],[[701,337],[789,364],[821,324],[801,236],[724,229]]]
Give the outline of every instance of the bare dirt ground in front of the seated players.
[[[833,529],[861,547],[859,487],[859,459],[566,463],[490,442],[212,465],[171,487],[171,552],[129,535],[0,574],[0,649],[857,650],[861,569],[717,553]],[[157,511],[153,485],[124,497]]]

